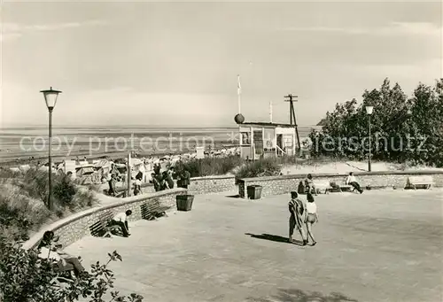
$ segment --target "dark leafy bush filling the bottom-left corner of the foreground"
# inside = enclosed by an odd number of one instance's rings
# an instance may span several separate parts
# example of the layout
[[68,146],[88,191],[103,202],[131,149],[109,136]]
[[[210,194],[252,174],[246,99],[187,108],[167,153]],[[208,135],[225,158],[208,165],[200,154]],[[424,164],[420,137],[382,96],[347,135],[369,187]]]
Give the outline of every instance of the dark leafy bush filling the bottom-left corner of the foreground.
[[[0,301],[4,302],[88,302],[128,301],[140,302],[143,297],[131,294],[120,296],[113,288],[113,271],[108,268],[112,261],[122,260],[117,252],[109,253],[104,265],[98,261],[75,281],[61,283],[56,263],[51,259],[41,259],[38,253],[24,250],[21,241],[12,241],[3,236],[4,227],[0,226]],[[16,239],[20,236],[17,235]],[[54,243],[50,243],[52,246]],[[51,246],[50,245],[50,246]]]

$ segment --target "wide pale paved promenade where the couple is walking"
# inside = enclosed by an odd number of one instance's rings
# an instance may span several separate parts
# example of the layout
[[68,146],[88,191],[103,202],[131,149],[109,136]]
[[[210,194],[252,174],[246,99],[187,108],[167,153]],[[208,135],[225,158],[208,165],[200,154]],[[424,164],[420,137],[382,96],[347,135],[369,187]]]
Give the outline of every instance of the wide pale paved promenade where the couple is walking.
[[145,301],[439,302],[442,193],[319,196],[318,244],[305,247],[284,242],[288,195],[196,196],[191,212],[137,221],[129,238],[86,237],[66,251],[89,264],[117,250],[116,290]]

